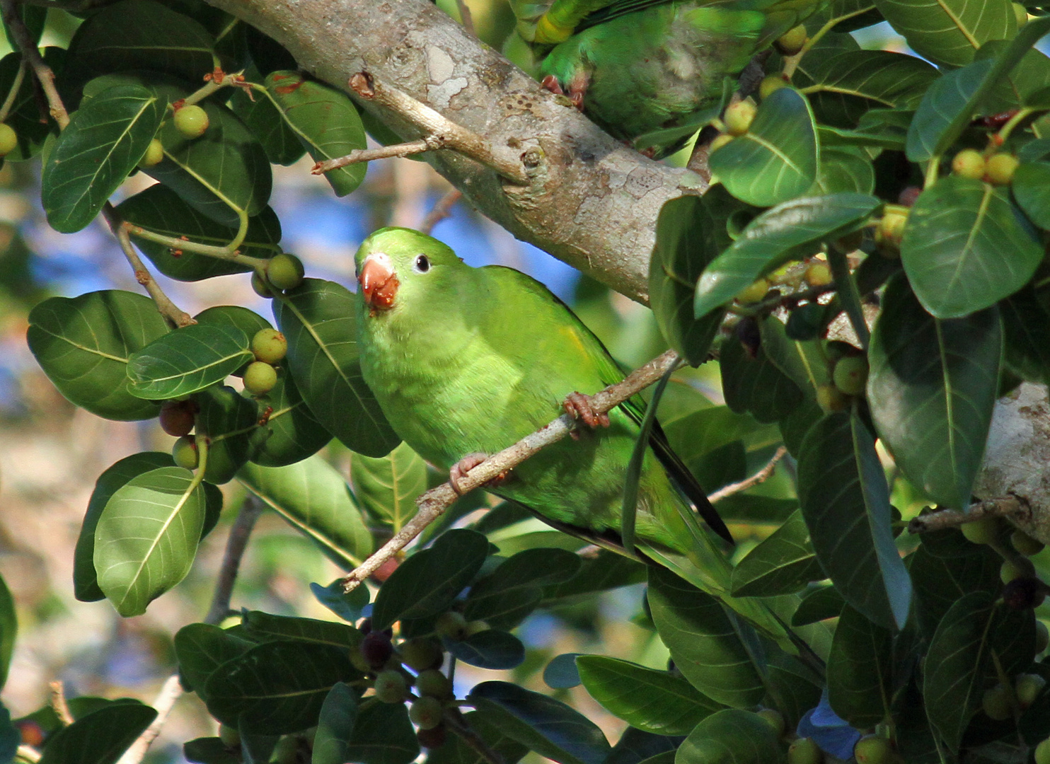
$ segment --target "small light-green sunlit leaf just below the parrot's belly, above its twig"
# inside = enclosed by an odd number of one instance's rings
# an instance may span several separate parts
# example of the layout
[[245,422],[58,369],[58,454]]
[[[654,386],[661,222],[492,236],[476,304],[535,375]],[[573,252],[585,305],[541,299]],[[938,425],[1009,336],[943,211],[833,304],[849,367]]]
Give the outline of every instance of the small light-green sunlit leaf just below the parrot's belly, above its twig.
[[385,457],[352,453],[350,480],[361,506],[397,533],[416,514],[416,498],[426,491],[426,464],[402,443]]

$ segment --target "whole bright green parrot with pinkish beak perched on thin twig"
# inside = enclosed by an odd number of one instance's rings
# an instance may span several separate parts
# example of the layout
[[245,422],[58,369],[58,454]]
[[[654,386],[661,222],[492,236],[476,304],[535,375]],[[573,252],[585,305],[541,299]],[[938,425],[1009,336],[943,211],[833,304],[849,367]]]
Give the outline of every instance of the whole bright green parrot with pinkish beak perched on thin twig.
[[[601,341],[539,281],[510,268],[471,268],[410,229],[372,234],[356,267],[361,373],[397,434],[449,469],[456,485],[485,454],[563,410],[579,415],[596,426],[548,446],[488,490],[560,530],[623,551],[624,482],[644,403],[632,399],[595,417],[578,395],[624,377]],[[649,446],[634,531],[643,559],[776,632],[755,600],[729,597],[732,569],[696,511],[732,537],[658,426]]]

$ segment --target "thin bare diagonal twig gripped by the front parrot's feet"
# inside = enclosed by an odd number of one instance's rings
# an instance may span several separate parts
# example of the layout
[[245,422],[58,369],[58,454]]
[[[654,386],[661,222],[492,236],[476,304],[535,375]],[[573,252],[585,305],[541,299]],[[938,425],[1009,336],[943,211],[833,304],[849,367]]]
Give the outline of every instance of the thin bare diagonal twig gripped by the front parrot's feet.
[[[653,384],[670,368],[677,368],[681,359],[674,351],[668,351],[654,358],[644,366],[636,368],[622,382],[606,387],[590,397],[594,413],[605,413],[615,408],[631,396],[637,395]],[[432,488],[416,500],[419,508],[415,516],[400,531],[394,534],[386,544],[374,552],[364,563],[352,570],[341,579],[343,591],[350,592],[361,581],[372,575],[383,563],[401,551],[413,538],[419,535],[426,526],[441,516],[461,494],[472,491],[501,472],[518,466],[542,448],[549,446],[569,434],[575,428],[576,422],[569,415],[563,413],[548,425],[531,432],[509,448],[489,457],[474,467],[459,481],[460,493],[453,488],[452,483],[442,483]]]

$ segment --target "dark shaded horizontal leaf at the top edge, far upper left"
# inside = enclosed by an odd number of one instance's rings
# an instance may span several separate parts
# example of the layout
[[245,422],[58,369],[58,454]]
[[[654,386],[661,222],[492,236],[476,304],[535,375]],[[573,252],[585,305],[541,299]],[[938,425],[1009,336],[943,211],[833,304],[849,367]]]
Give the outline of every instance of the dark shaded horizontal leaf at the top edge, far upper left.
[[91,14],[69,43],[86,71],[153,69],[190,82],[214,68],[214,40],[200,22],[154,0],[124,0]]

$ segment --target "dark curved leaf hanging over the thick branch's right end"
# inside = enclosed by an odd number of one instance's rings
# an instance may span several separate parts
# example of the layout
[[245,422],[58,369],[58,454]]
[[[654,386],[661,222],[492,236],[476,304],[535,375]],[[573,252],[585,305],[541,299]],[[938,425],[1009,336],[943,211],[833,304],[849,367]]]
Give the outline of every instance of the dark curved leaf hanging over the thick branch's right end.
[[694,284],[733,242],[730,216],[749,209],[723,186],[712,186],[704,196],[671,199],[660,209],[649,263],[649,301],[664,337],[689,363],[707,360],[723,315],[715,311],[699,320],[693,317]]

